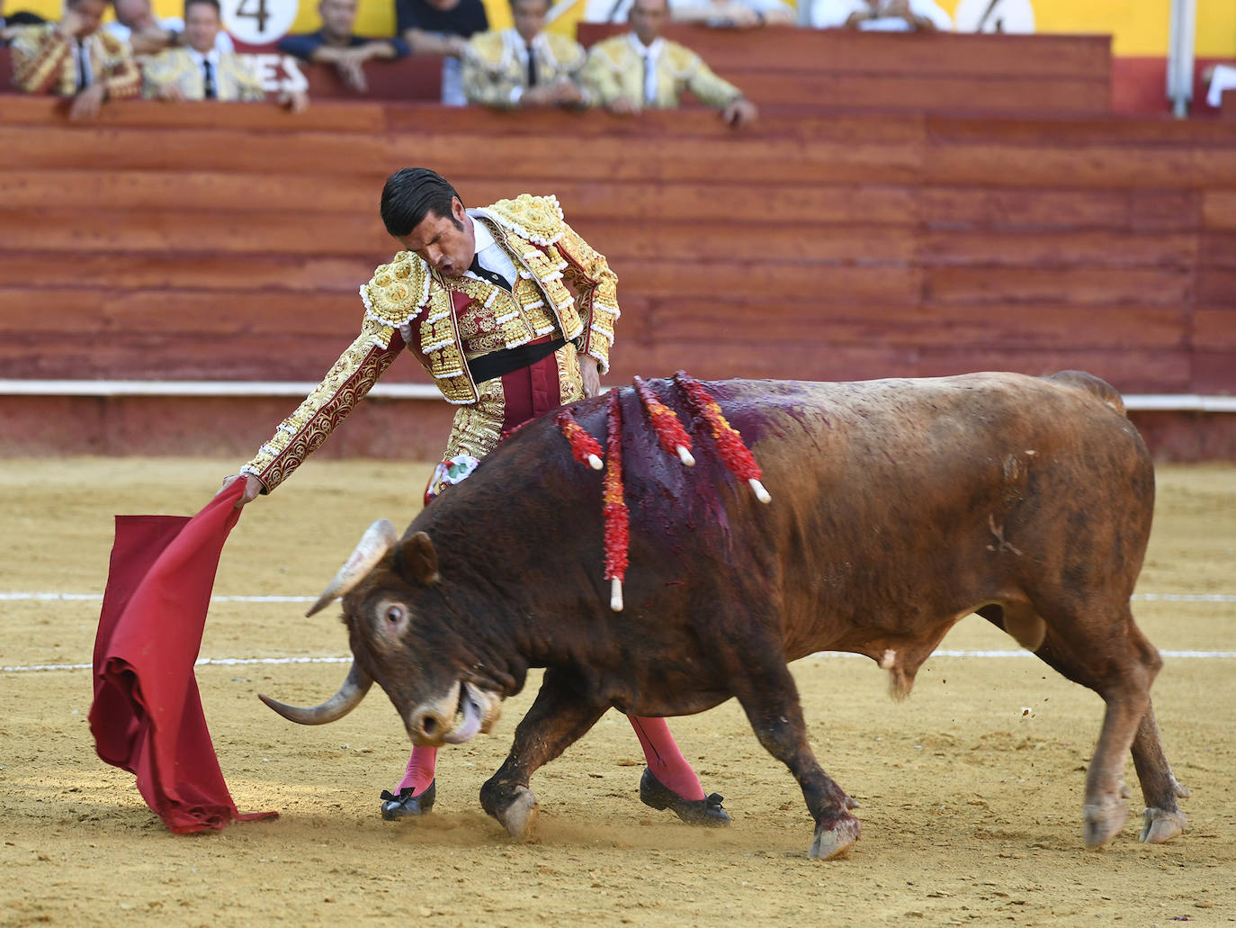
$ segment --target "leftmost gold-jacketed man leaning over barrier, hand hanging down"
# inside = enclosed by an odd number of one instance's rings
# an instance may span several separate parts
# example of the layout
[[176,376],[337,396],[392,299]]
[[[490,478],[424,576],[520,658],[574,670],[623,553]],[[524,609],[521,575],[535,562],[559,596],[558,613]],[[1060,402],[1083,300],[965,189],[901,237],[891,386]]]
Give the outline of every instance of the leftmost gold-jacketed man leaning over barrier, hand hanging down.
[[73,120],[135,97],[141,74],[129,45],[99,30],[106,11],[106,0],[66,0],[59,22],[12,27],[14,83],[26,93],[72,97]]

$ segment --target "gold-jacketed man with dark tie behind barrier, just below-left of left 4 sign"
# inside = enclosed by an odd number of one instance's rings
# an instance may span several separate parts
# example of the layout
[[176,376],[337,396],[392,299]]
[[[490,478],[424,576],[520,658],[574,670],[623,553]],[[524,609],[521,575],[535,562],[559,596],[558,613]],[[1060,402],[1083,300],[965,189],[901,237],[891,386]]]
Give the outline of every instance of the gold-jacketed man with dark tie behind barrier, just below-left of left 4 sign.
[[[185,0],[184,46],[168,48],[146,63],[146,97],[164,103],[265,100],[266,92],[248,61],[215,46],[221,28],[219,0]],[[279,103],[293,113],[309,105],[304,93],[284,94]]]

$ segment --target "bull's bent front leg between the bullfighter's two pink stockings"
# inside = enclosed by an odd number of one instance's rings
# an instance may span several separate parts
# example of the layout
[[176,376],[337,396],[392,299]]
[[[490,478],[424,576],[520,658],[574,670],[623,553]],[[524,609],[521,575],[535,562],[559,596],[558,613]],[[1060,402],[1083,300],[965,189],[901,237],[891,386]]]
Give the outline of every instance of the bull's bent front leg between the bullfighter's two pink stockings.
[[481,808],[498,819],[512,838],[527,838],[536,813],[529,778],[582,737],[607,708],[588,702],[580,688],[570,685],[567,674],[545,671],[536,699],[515,729],[510,754],[481,787]]

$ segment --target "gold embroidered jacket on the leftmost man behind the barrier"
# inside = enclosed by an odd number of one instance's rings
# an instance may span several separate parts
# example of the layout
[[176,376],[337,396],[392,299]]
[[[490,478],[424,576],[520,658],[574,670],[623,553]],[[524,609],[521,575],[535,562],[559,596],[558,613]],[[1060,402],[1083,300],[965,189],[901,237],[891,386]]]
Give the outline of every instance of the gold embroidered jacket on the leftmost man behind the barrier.
[[[20,26],[11,32],[14,83],[26,93],[73,97],[78,92],[73,40],[59,35],[57,25]],[[82,45],[90,56],[93,82],[103,84],[109,98],[137,95],[142,78],[127,42],[99,30]]]

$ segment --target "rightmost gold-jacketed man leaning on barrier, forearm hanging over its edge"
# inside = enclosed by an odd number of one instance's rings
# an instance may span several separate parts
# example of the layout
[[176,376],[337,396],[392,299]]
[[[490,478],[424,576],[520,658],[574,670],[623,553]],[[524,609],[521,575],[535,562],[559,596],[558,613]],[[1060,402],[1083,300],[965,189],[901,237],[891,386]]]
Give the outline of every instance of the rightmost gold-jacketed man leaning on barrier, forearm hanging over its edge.
[[629,114],[672,109],[682,92],[690,90],[721,110],[732,126],[754,121],[755,104],[742,90],[713,74],[690,48],[661,38],[669,17],[669,0],[634,0],[628,16],[632,31],[588,51],[585,85],[592,100],[612,113]]

